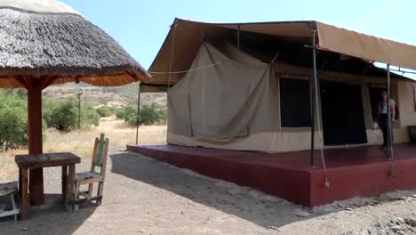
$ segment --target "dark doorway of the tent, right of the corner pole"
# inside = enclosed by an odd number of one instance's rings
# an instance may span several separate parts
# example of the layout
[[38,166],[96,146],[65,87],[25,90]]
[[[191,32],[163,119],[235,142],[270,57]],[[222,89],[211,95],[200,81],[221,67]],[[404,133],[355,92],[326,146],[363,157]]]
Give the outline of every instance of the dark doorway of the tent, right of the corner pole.
[[321,80],[325,145],[367,142],[360,85]]

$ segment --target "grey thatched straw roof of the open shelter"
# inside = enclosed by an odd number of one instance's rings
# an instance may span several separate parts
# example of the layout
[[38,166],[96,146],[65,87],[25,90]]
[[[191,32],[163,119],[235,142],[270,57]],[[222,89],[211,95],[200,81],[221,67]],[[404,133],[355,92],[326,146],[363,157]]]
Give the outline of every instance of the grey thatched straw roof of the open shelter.
[[68,5],[0,0],[0,87],[24,87],[22,77],[52,77],[48,85],[125,85],[149,75],[111,36]]

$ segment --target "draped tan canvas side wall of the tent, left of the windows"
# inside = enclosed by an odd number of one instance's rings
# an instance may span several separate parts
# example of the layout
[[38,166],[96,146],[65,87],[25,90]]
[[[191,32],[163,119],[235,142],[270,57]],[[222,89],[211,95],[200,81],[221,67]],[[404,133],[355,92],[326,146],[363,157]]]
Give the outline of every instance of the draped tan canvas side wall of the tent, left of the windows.
[[[196,70],[170,89],[170,132],[229,138],[278,130],[277,84],[270,65],[231,45],[223,50],[228,56],[203,44],[191,66]],[[212,64],[217,65],[198,69]]]

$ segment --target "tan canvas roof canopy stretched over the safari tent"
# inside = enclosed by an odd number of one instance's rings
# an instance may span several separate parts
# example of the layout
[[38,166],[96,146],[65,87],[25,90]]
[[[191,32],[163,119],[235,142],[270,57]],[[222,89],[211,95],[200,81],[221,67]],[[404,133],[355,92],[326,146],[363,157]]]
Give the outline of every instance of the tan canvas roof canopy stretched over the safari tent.
[[[189,69],[203,41],[216,43],[228,41],[246,53],[258,53],[302,67],[311,68],[313,31],[316,30],[318,69],[345,73],[384,77],[386,72],[372,65],[380,61],[407,69],[416,69],[416,46],[397,43],[388,39],[368,36],[352,30],[338,28],[315,20],[254,22],[254,23],[206,23],[175,19],[155,61],[152,72],[169,72],[172,53],[172,72]],[[237,33],[239,29],[239,33]],[[173,39],[173,35],[175,39]],[[172,40],[174,41],[172,51]],[[280,45],[280,46],[279,46]],[[350,59],[350,60],[341,60]],[[267,61],[267,60],[266,60]],[[271,61],[271,60],[270,60]],[[269,62],[269,61],[268,61]],[[356,71],[355,71],[356,70]],[[171,75],[175,84],[184,73]],[[148,85],[167,85],[168,73],[154,73],[145,82]]]

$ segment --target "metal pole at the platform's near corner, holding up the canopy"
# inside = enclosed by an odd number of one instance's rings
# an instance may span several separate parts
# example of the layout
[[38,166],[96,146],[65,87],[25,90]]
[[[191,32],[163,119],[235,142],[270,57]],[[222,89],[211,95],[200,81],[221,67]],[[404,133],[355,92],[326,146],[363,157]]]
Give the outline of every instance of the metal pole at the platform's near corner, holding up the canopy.
[[312,86],[312,104],[310,114],[310,166],[314,166],[314,155],[315,155],[315,115],[316,115],[316,89],[317,89],[317,75],[316,75],[316,29],[314,29],[314,36],[312,37],[312,50],[313,50],[313,69],[314,77]]

